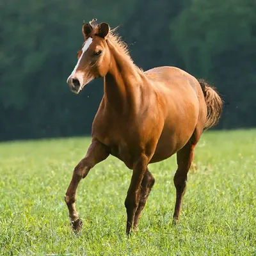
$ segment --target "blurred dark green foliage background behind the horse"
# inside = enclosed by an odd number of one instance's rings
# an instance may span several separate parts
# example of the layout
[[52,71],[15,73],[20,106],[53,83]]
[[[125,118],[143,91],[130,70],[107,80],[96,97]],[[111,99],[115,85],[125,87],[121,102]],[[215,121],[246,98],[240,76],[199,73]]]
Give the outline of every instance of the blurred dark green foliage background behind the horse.
[[145,70],[175,65],[214,83],[227,103],[218,128],[256,125],[253,0],[2,2],[0,140],[90,133],[102,80],[76,96],[66,79],[83,43],[83,20],[93,18],[120,25]]

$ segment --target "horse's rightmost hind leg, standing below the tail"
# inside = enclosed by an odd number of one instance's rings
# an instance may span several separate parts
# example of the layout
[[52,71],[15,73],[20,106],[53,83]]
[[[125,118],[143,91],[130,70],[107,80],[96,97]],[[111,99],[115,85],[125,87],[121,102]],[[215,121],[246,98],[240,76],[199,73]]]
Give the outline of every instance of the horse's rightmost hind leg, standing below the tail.
[[202,131],[196,129],[193,136],[190,138],[188,143],[177,152],[177,164],[178,169],[174,175],[174,184],[176,188],[176,203],[173,214],[173,223],[176,224],[179,221],[179,214],[182,204],[182,198],[186,191],[186,183],[188,180],[188,171],[191,166],[194,157],[194,148],[198,142]]

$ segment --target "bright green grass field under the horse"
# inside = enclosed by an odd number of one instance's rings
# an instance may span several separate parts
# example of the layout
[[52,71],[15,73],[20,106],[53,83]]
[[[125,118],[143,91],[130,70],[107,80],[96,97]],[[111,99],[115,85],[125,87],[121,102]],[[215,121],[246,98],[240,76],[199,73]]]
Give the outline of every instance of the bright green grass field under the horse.
[[70,230],[64,195],[89,138],[0,143],[0,255],[256,255],[256,130],[205,132],[180,223],[172,227],[176,159],[151,164],[156,184],[125,236],[131,171],[109,157],[81,181]]

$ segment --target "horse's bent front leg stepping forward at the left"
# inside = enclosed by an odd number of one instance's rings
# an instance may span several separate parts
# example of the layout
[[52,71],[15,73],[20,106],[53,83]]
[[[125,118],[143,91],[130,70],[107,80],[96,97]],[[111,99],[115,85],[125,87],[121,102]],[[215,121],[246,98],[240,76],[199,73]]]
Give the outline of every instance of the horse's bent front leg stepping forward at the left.
[[77,164],[74,169],[72,179],[68,186],[65,202],[68,207],[69,218],[74,231],[79,231],[83,225],[83,222],[79,220],[76,211],[76,191],[77,186],[81,179],[84,179],[88,172],[95,164],[103,161],[109,156],[108,147],[100,143],[100,141],[93,139],[92,144],[88,148],[86,156]]

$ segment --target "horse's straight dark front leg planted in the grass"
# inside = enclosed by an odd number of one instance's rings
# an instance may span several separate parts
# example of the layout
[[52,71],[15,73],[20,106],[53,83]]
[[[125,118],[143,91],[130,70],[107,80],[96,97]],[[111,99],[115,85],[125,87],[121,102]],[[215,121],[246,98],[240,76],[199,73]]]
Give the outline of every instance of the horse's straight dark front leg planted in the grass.
[[140,156],[136,164],[134,164],[131,184],[129,186],[127,196],[125,199],[125,207],[127,212],[127,225],[126,225],[126,234],[128,235],[131,231],[132,223],[136,210],[140,202],[140,186],[141,181],[145,175],[148,165],[148,157],[143,154]]

